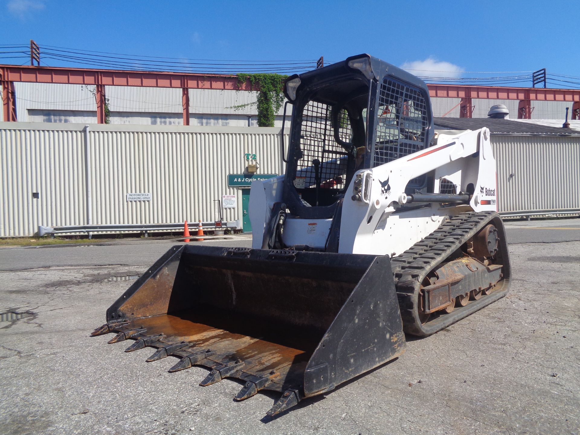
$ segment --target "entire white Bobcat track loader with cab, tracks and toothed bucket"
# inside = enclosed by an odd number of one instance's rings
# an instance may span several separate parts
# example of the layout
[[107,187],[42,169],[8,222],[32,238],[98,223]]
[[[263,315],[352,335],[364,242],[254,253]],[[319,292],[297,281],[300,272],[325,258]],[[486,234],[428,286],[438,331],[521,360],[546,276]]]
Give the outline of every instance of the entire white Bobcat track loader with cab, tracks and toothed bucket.
[[[251,186],[252,248],[171,248],[92,335],[235,378],[267,414],[401,356],[502,298],[490,133],[433,130],[429,92],[368,55],[285,82],[285,174]],[[282,144],[284,147],[284,144]]]

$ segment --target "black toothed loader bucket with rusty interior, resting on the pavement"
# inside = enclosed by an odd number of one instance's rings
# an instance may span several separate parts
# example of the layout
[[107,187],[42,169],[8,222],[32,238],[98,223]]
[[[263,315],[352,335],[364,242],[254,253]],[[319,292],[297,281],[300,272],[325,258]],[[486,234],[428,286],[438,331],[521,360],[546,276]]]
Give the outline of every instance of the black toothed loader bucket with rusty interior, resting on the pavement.
[[280,391],[276,415],[303,397],[400,356],[405,336],[384,256],[173,247],[108,310],[93,335],[211,369],[200,385],[245,382],[237,400]]

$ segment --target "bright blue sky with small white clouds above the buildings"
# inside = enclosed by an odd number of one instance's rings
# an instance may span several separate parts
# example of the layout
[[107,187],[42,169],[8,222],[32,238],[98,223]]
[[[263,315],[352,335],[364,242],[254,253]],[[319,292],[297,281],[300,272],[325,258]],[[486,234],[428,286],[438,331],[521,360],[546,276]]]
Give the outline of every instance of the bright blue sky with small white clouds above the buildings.
[[[34,39],[74,49],[220,60],[338,61],[366,52],[430,71],[418,75],[547,68],[580,77],[579,18],[578,1],[2,0],[0,44]],[[44,64],[66,65],[54,59]]]

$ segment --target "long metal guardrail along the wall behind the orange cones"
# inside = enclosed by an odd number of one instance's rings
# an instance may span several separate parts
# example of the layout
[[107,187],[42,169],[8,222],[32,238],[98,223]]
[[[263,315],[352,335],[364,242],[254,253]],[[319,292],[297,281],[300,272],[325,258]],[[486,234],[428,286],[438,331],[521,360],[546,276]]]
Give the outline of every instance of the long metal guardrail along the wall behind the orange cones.
[[[154,223],[154,224],[117,224],[117,225],[73,225],[63,227],[38,227],[38,235],[42,237],[48,234],[67,234],[67,233],[104,233],[104,232],[125,232],[125,231],[143,231],[145,237],[148,232],[155,231],[179,231],[183,230],[184,223]],[[188,222],[190,229],[197,230],[200,227],[199,222]],[[221,226],[216,226],[215,222],[202,222],[201,227],[204,230],[241,230],[240,220],[230,222],[223,221]]]

